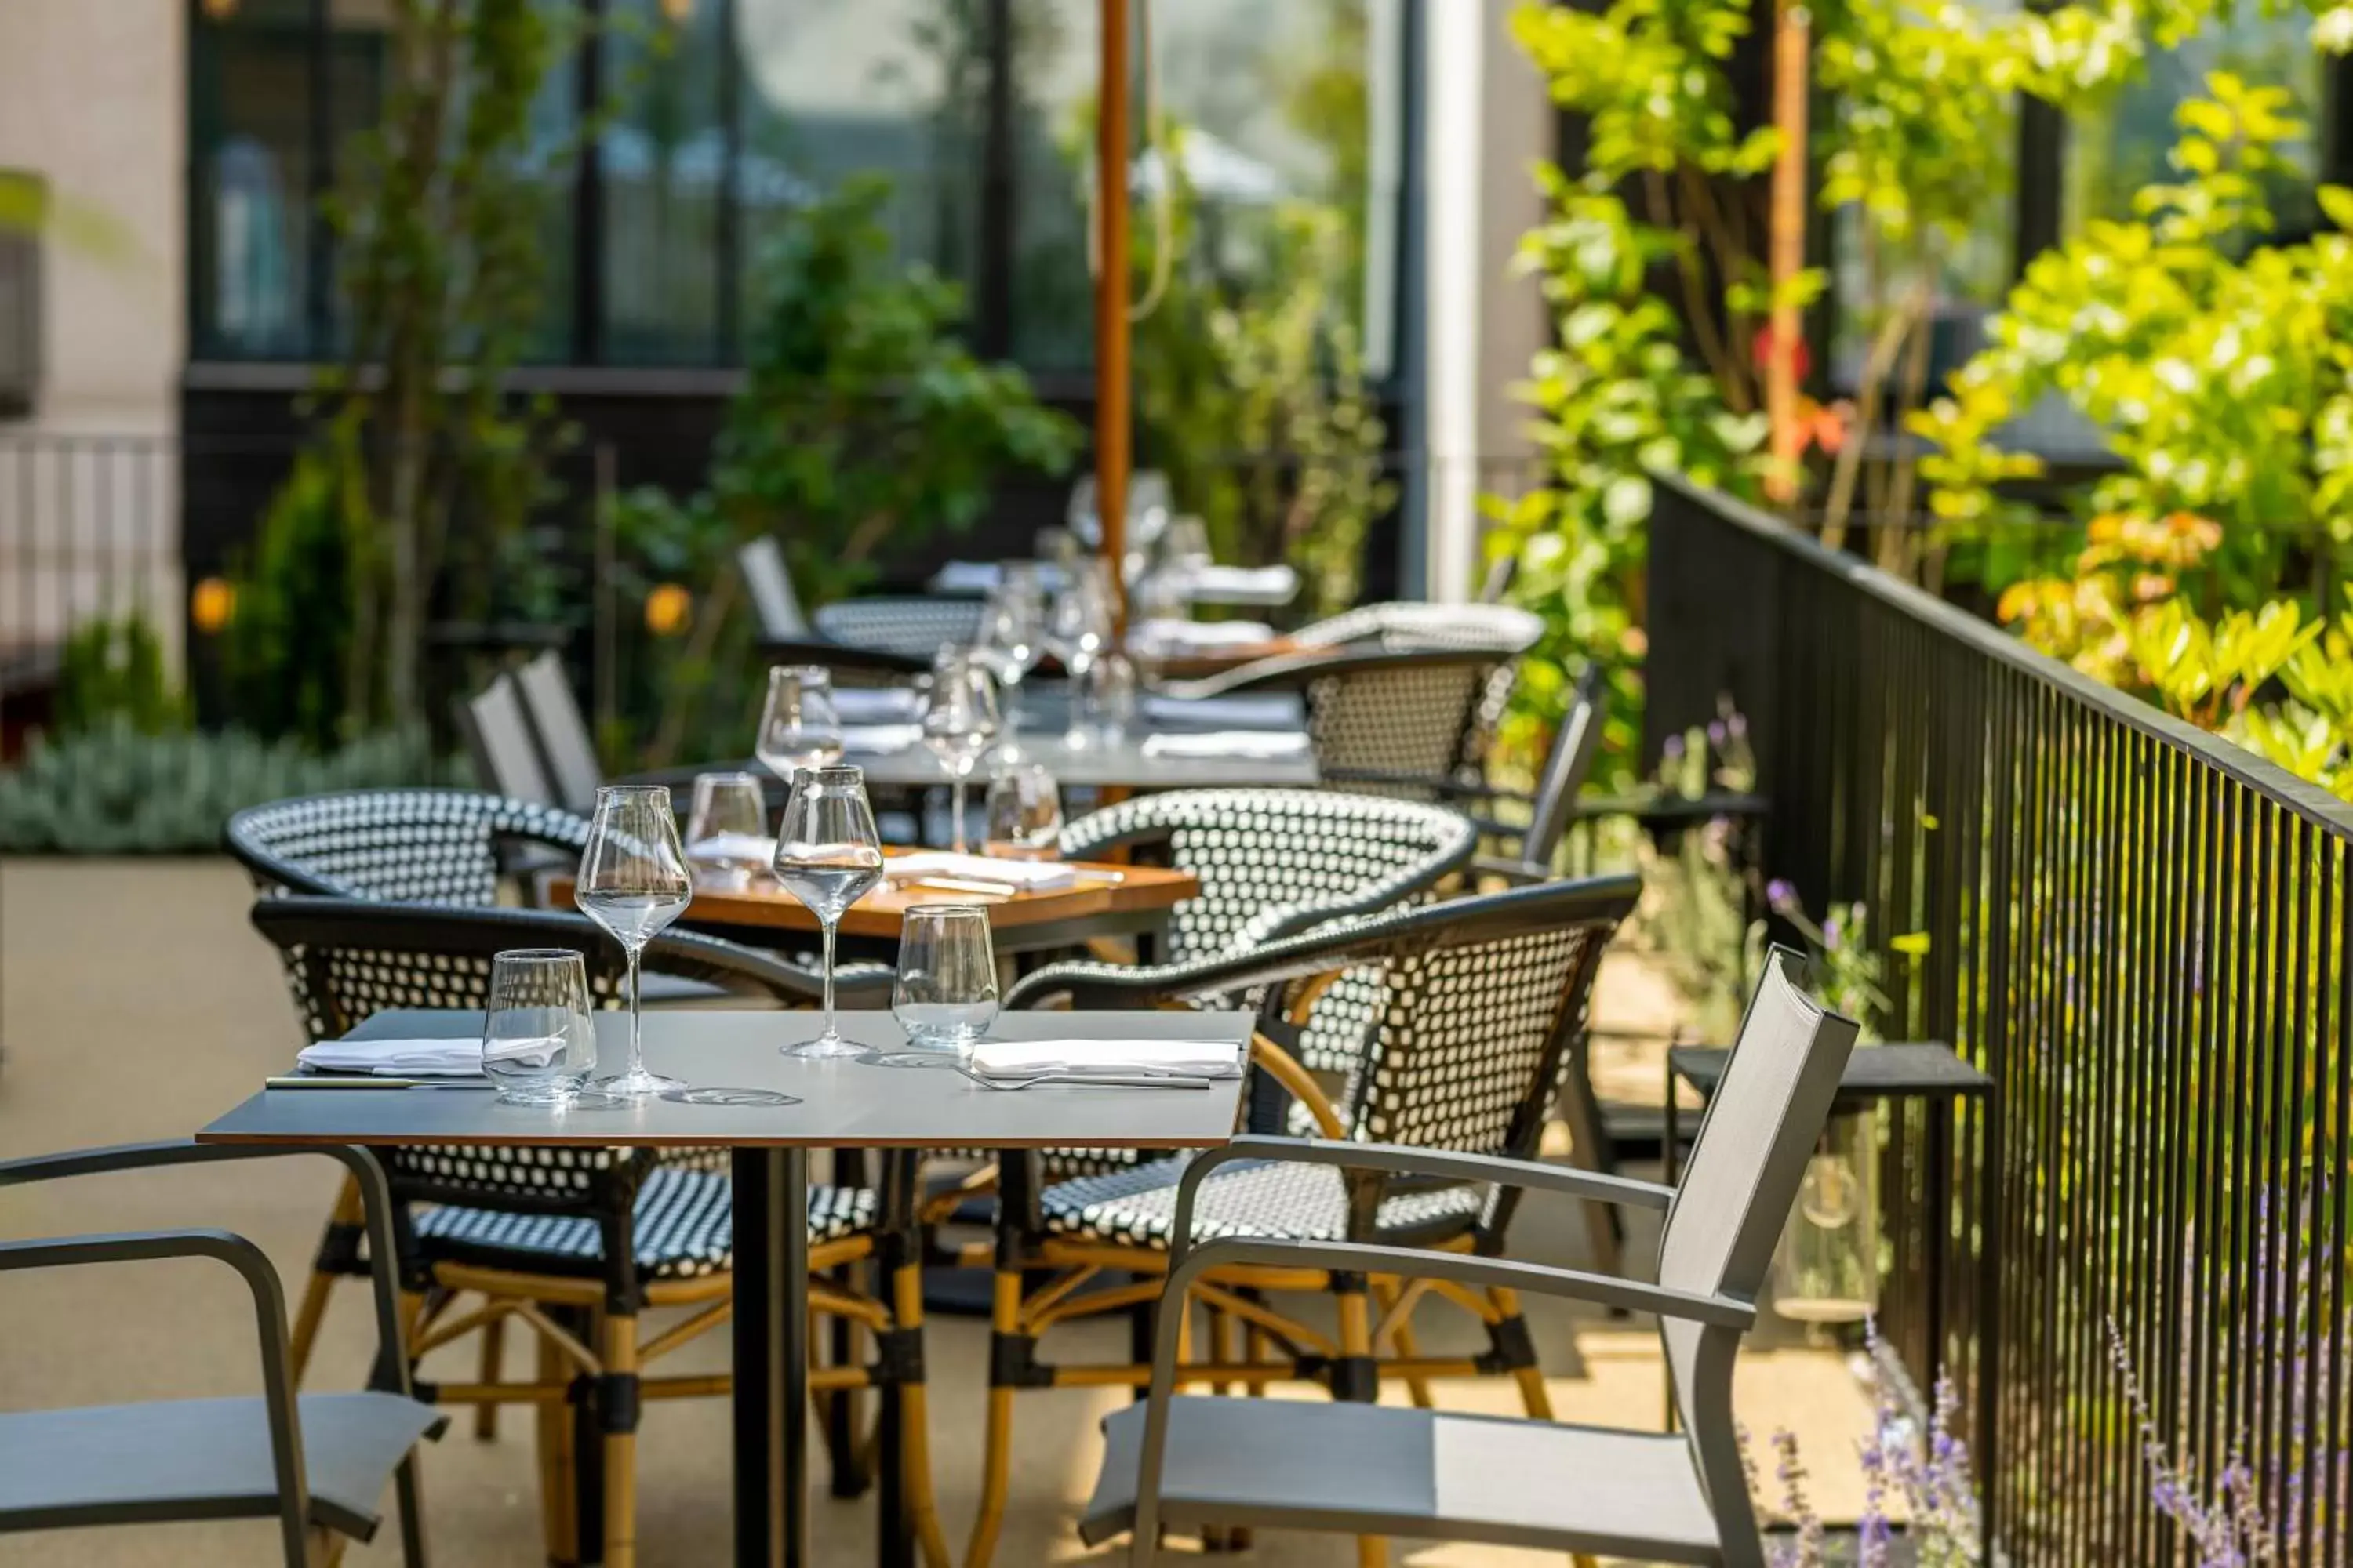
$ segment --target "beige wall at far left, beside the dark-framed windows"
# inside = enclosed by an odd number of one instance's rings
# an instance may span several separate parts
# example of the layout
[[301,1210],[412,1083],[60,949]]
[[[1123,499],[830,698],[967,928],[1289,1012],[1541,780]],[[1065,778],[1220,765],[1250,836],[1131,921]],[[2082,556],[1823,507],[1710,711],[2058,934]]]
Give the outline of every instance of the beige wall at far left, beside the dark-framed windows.
[[[184,346],[186,7],[0,0],[0,167],[96,209],[120,254],[47,242],[45,378],[0,421],[0,644],[144,604],[179,646],[176,430]],[[139,437],[73,447],[68,437]]]

